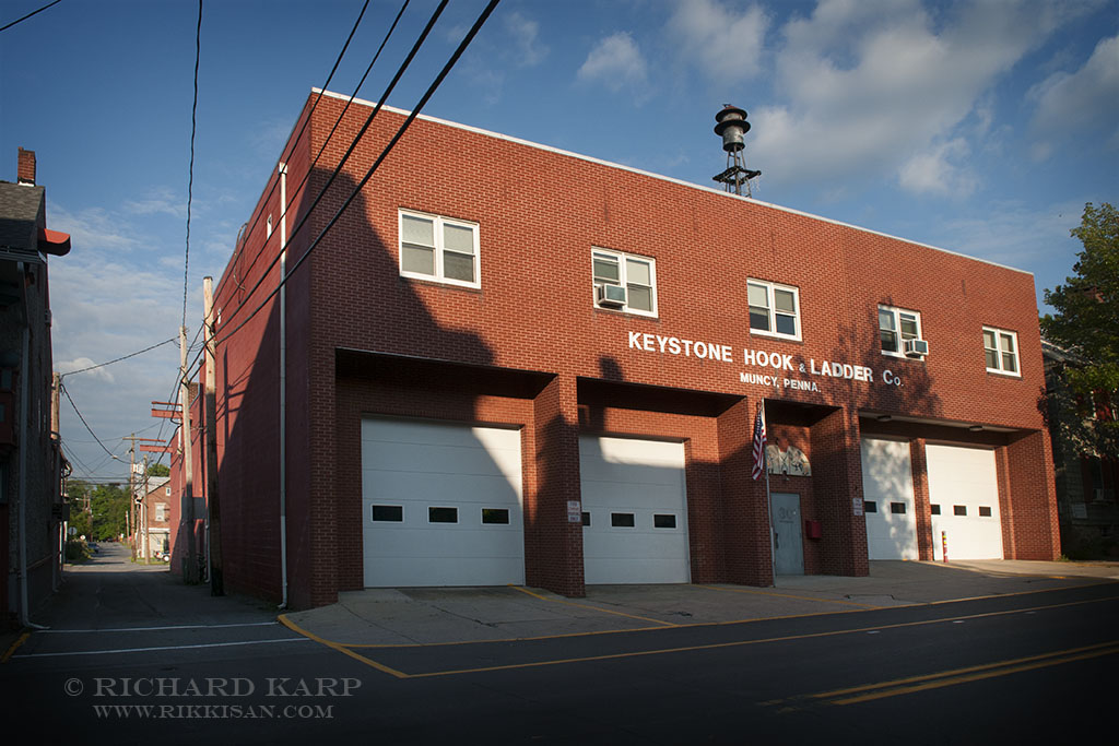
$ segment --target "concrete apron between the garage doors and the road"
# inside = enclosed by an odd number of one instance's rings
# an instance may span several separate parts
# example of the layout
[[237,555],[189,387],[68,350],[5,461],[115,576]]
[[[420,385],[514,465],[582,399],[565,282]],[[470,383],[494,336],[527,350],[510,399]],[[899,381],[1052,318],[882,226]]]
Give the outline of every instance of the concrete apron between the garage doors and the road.
[[517,640],[858,612],[1119,579],[1119,564],[872,561],[868,577],[778,576],[777,585],[601,585],[585,598],[527,587],[368,588],[285,621],[342,645]]

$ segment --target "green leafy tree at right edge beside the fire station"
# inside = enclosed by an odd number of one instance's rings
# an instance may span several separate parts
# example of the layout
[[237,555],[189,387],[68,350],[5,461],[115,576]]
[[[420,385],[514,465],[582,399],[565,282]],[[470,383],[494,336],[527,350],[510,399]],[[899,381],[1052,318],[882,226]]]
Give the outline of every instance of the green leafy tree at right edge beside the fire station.
[[[1045,291],[1055,313],[1042,317],[1042,333],[1069,353],[1051,396],[1063,396],[1079,416],[1064,417],[1061,433],[1085,455],[1119,459],[1119,213],[1108,202],[1084,206],[1071,232],[1084,249],[1065,284]],[[1096,415],[1093,417],[1093,415]]]

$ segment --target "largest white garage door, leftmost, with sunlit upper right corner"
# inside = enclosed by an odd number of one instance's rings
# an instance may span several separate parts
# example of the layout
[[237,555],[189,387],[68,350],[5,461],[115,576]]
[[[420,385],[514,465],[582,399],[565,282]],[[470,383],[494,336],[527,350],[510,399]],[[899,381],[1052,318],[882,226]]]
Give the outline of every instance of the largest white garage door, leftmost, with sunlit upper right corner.
[[520,432],[361,422],[366,587],[525,582]]

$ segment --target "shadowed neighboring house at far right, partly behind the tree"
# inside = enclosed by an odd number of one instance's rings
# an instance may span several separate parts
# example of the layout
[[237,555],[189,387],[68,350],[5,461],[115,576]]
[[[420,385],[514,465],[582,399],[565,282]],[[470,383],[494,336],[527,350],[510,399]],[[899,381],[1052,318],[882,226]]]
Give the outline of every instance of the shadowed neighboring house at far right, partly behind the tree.
[[1061,546],[1073,559],[1119,555],[1119,462],[1084,453],[1062,435],[1061,424],[1073,418],[1115,417],[1115,409],[1076,407],[1075,397],[1059,388],[1057,374],[1075,366],[1074,355],[1042,340],[1045,387],[1056,500],[1061,520]]

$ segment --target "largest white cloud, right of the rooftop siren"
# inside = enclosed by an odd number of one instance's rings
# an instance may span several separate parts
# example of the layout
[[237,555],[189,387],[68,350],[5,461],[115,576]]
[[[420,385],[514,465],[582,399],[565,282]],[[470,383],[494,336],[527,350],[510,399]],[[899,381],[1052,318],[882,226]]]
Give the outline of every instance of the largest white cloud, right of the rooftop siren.
[[938,143],[969,116],[982,135],[985,94],[1052,31],[1052,8],[978,2],[934,18],[918,0],[824,0],[782,29],[788,101],[753,112],[752,162],[777,182],[869,173],[930,191],[919,166],[947,173],[960,145]]

